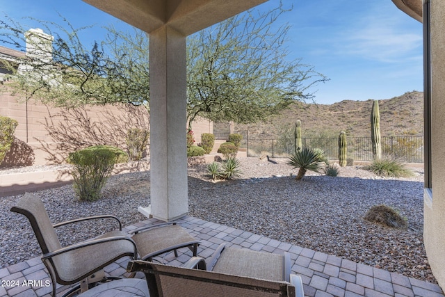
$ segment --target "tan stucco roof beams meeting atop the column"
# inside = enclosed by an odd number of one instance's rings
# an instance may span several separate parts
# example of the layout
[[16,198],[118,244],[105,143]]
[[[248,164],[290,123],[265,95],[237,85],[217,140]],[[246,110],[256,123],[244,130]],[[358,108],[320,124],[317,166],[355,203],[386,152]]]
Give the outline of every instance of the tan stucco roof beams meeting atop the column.
[[267,0],[83,0],[147,33],[168,25],[190,35]]

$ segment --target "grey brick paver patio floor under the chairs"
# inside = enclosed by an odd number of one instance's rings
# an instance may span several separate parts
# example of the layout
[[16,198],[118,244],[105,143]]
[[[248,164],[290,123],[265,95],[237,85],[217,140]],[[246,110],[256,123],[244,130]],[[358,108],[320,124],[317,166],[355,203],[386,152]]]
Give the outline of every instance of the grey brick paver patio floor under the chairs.
[[[177,222],[200,239],[198,255],[205,259],[208,259],[223,242],[264,252],[290,252],[293,262],[292,271],[302,276],[306,296],[445,296],[437,284],[407,278],[398,273],[357,264],[348,259],[293,246],[251,232],[191,216],[181,218]],[[153,223],[159,223],[159,221],[145,220],[125,230],[133,230]],[[170,252],[158,260],[172,265],[181,265],[190,257],[191,251],[184,248],[179,250],[177,258]],[[122,259],[120,262],[107,266],[106,273],[122,275],[125,273],[126,266],[127,260]],[[136,277],[143,278],[143,274],[138,273]],[[0,296],[50,296],[51,294],[51,285],[47,285],[50,283],[49,276],[40,257],[0,269],[0,279],[2,282]],[[63,294],[67,289],[69,289],[67,286],[58,287],[58,295]]]

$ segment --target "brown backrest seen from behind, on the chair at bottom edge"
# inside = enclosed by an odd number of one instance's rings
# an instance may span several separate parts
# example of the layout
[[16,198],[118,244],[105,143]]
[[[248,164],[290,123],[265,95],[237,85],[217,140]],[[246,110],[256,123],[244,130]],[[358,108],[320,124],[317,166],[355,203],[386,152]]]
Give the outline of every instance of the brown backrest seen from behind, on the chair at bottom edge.
[[151,297],[294,297],[296,294],[295,287],[289,282],[259,280],[140,260],[129,262],[127,271],[145,273]]

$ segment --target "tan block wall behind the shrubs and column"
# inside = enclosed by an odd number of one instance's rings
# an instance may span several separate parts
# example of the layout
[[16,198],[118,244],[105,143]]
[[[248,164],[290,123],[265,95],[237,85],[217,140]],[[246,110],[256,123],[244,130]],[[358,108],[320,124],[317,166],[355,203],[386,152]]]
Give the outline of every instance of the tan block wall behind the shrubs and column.
[[[19,123],[13,147],[0,168],[64,163],[70,152],[97,144],[126,150],[128,129],[149,129],[147,109],[131,104],[62,109],[0,92],[0,115]],[[195,143],[200,143],[200,135],[213,133],[213,125],[209,120],[198,120],[193,131]]]

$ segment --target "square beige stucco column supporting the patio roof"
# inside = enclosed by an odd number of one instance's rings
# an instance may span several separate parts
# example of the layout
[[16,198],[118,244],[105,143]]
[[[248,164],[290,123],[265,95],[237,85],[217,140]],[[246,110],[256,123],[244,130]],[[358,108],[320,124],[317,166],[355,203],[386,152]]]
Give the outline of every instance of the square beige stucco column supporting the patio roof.
[[154,218],[188,212],[186,36],[163,26],[149,34],[150,199]]

